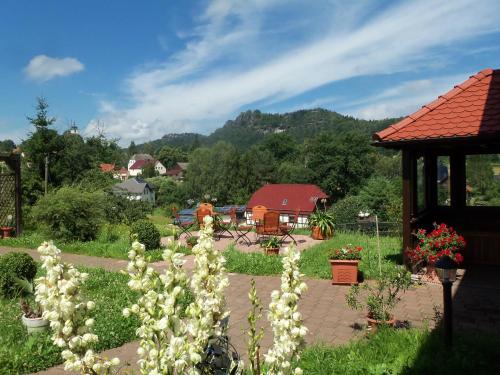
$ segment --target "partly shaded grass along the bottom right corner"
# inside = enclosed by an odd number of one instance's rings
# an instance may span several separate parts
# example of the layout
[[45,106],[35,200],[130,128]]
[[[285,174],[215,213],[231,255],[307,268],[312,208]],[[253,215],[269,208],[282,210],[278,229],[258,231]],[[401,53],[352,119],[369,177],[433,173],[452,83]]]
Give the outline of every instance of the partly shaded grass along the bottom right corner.
[[344,346],[310,346],[299,366],[307,375],[500,373],[500,338],[458,334],[451,350],[442,342],[439,330],[383,329]]

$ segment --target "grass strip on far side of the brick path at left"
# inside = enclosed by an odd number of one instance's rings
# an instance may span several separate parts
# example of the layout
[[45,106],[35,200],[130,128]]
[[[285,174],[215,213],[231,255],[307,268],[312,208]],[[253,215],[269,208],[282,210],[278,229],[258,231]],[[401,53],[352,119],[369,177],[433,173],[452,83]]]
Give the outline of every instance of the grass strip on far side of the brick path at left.
[[[107,225],[101,229],[94,241],[54,242],[65,253],[127,259],[127,253],[130,249],[129,237],[129,230],[126,225]],[[36,249],[42,242],[49,239],[40,232],[26,231],[20,237],[0,240],[0,246]],[[161,253],[161,249],[148,251],[152,262],[161,260]]]

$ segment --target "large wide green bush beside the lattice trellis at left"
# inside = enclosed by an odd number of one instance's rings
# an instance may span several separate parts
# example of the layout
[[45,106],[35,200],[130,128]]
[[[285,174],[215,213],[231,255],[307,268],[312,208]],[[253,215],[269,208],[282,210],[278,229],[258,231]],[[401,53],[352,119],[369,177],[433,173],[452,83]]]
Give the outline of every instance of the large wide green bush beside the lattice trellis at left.
[[103,203],[102,193],[62,187],[38,200],[33,218],[54,238],[89,241],[104,221]]

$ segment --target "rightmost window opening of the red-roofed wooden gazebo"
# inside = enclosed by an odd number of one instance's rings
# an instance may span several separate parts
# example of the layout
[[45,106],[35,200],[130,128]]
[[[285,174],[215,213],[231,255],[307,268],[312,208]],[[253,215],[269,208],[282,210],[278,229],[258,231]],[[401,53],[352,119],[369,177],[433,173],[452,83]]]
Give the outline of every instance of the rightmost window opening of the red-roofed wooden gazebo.
[[465,157],[467,206],[500,206],[500,154]]

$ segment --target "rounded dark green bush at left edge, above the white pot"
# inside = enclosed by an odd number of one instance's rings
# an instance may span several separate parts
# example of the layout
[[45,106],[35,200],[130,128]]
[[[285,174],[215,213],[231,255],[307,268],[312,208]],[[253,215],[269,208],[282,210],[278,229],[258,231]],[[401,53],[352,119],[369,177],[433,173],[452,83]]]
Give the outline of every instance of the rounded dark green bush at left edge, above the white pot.
[[26,253],[7,253],[0,257],[0,295],[13,297],[20,292],[14,277],[32,281],[36,275],[36,263]]

